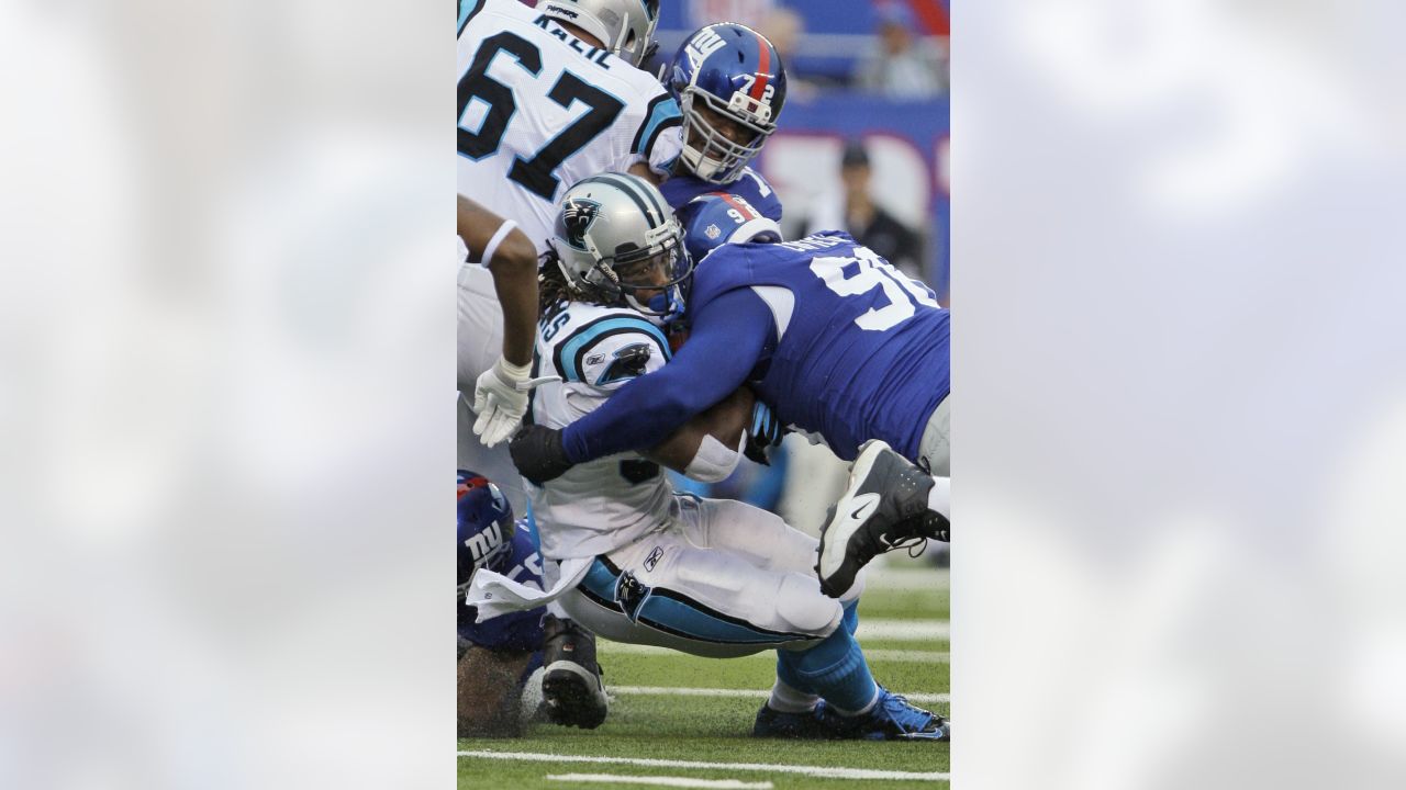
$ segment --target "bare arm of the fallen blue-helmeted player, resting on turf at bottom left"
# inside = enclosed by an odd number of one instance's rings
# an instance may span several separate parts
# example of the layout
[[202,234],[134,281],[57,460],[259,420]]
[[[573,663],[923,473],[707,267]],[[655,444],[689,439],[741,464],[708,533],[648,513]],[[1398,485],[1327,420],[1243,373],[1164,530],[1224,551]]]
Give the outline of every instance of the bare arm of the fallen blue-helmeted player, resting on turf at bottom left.
[[471,645],[458,659],[458,737],[515,738],[522,734],[517,680],[529,651],[491,651]]

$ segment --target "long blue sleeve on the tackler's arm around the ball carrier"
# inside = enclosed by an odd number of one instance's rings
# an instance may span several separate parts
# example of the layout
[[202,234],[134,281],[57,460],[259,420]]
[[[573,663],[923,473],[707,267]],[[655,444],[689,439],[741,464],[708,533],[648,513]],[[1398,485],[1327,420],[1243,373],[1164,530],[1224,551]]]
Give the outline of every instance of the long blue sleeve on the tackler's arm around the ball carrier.
[[654,447],[693,415],[747,381],[775,335],[772,313],[749,288],[709,302],[693,319],[673,361],[620,388],[599,409],[567,426],[562,444],[574,464]]

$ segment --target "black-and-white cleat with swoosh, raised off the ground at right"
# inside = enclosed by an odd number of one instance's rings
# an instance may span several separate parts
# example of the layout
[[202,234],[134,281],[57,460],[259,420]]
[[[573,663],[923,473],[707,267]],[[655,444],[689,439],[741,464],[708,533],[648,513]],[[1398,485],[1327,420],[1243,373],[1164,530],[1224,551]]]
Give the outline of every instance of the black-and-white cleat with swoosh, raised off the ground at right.
[[927,545],[929,537],[949,540],[948,519],[928,509],[931,489],[932,478],[917,465],[877,439],[866,441],[820,529],[820,589],[839,597],[876,555]]

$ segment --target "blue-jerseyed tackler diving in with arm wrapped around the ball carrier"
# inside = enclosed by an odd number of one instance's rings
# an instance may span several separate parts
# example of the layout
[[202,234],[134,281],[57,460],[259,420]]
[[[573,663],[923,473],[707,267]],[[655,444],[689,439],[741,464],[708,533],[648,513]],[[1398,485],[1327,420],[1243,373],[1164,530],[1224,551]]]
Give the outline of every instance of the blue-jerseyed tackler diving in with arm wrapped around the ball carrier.
[[823,527],[817,574],[827,595],[844,593],[876,554],[948,540],[948,311],[845,233],[780,242],[769,219],[723,197],[699,201],[688,245],[704,259],[692,280],[689,342],[564,430],[523,429],[512,444],[517,470],[540,484],[651,447],[749,384],[780,423],[855,460]]

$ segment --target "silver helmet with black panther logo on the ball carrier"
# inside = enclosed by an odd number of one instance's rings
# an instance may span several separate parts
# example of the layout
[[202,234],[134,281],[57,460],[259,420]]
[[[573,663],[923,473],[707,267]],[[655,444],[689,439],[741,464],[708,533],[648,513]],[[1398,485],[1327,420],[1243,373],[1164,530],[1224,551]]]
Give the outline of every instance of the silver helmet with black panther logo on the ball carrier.
[[679,285],[693,261],[678,219],[650,181],[623,173],[578,181],[561,198],[551,246],[576,297],[623,304],[658,323],[683,315]]

